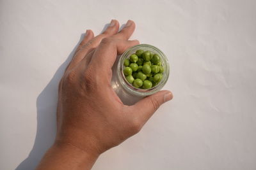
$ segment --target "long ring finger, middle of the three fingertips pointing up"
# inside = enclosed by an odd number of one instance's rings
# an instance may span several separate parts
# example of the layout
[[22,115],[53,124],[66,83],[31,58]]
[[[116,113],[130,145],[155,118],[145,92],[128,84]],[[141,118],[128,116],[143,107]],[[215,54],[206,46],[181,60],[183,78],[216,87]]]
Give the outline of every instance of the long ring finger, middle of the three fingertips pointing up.
[[[95,38],[90,39],[87,43],[83,44],[79,50],[74,55],[74,59],[70,62],[69,66],[67,67],[67,70],[72,69],[72,67],[76,66],[78,62],[83,60],[83,58],[86,56],[87,53],[91,52],[94,48],[96,48],[100,41],[103,38],[106,38],[108,36],[112,36],[113,34],[116,34],[119,29],[119,23],[117,20],[111,20],[108,28],[106,31],[102,32],[102,34],[99,34],[98,36],[95,36]],[[84,41],[85,42],[85,41]]]

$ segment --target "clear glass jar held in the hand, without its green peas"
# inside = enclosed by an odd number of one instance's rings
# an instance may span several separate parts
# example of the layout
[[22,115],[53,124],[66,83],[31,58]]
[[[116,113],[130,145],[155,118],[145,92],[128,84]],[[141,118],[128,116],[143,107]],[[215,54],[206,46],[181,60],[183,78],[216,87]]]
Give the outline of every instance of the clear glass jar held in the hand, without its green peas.
[[[138,89],[136,87],[133,87],[125,79],[125,75],[123,72],[124,60],[129,58],[130,55],[136,52],[136,50],[147,50],[153,53],[157,53],[157,55],[159,55],[159,57],[161,58],[162,66],[164,68],[163,78],[155,87],[152,87],[150,89]],[[147,44],[131,46],[131,48],[127,49],[121,56],[118,56],[116,58],[116,62],[112,69],[113,76],[111,85],[124,104],[134,104],[141,98],[158,92],[163,88],[169,77],[169,64],[166,55],[164,55],[164,53],[155,46]]]

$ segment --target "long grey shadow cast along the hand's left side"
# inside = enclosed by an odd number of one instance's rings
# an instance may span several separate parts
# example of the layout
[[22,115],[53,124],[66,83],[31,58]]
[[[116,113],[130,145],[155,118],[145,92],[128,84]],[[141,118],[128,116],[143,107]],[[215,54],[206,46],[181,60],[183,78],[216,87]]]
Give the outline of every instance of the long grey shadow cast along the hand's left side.
[[[83,39],[84,34],[81,35],[80,41]],[[80,43],[79,41],[79,43]],[[42,159],[46,150],[54,142],[56,135],[56,108],[58,101],[58,83],[63,76],[63,73],[72,59],[77,46],[70,55],[68,55],[67,60],[61,64],[58,68],[51,81],[42,90],[36,99],[36,111],[37,111],[37,130],[34,146],[29,153],[29,156],[23,160],[16,170],[29,170],[35,169],[37,164]]]

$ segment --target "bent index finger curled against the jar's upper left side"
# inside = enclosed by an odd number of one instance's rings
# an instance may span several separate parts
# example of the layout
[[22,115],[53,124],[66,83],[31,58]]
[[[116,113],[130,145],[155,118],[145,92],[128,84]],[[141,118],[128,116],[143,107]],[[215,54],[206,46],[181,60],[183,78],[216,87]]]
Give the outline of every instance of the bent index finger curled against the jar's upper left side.
[[124,53],[127,48],[138,45],[139,43],[138,40],[127,41],[105,38],[93,53],[91,65],[92,67],[99,67],[100,70],[106,70],[106,73],[111,70],[116,60],[116,55]]

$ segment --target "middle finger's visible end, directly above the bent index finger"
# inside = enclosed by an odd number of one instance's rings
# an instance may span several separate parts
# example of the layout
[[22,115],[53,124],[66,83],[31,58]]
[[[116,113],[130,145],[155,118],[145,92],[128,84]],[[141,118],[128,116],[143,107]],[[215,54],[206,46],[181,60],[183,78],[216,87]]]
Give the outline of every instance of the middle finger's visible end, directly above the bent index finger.
[[132,20],[128,20],[125,27],[113,36],[116,39],[129,39],[135,30],[135,23]]

